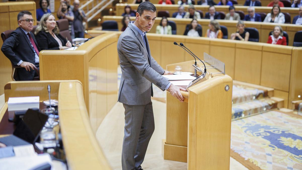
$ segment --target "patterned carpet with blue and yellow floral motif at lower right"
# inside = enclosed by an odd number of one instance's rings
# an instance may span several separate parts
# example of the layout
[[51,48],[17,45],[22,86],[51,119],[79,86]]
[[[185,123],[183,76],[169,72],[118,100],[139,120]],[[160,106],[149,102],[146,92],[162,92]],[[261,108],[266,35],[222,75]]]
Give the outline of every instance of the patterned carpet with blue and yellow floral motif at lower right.
[[278,110],[232,121],[231,149],[261,169],[302,169],[302,117]]

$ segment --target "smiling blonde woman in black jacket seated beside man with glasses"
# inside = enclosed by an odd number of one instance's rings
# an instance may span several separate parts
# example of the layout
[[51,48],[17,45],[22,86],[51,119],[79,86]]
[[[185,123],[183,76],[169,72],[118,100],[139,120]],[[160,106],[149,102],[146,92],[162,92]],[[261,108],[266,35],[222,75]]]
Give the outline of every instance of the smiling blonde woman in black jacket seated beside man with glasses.
[[71,43],[63,38],[56,25],[53,14],[44,14],[35,30],[36,39],[41,50],[63,50],[71,47]]

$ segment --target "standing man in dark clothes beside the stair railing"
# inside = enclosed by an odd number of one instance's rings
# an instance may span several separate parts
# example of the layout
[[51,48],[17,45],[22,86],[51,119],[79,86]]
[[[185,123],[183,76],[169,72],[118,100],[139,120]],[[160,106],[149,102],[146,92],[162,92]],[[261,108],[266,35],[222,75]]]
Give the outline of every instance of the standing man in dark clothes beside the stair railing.
[[80,7],[80,1],[74,0],[73,1],[73,28],[75,31],[75,38],[84,38],[84,27],[83,27],[83,21],[87,23],[87,17],[85,15],[85,12],[82,9],[79,9]]

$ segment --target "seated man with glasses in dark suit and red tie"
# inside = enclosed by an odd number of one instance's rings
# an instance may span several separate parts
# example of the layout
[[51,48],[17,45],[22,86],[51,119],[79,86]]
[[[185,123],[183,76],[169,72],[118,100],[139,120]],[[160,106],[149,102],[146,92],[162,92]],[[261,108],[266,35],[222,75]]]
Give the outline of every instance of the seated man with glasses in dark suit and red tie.
[[18,68],[16,80],[33,80],[35,74],[34,67],[39,69],[39,51],[34,34],[31,32],[34,19],[29,11],[21,11],[18,14],[19,27],[13,31],[3,42],[1,51]]

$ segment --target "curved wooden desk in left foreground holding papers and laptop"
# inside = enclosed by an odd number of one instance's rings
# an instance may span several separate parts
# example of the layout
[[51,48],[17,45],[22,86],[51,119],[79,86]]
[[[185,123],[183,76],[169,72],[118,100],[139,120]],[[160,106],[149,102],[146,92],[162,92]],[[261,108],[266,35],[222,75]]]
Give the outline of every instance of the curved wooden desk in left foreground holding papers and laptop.
[[51,86],[51,98],[59,101],[60,129],[68,167],[78,170],[111,169],[90,126],[82,83],[78,80],[7,83],[0,120],[7,109],[9,97],[40,96],[40,101],[48,100],[48,84]]

